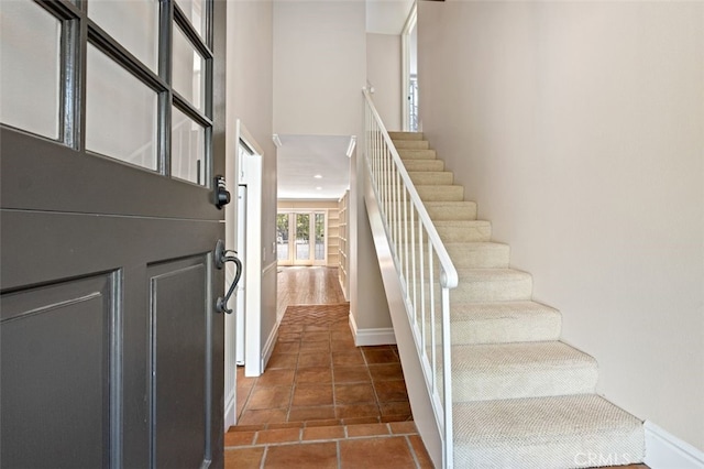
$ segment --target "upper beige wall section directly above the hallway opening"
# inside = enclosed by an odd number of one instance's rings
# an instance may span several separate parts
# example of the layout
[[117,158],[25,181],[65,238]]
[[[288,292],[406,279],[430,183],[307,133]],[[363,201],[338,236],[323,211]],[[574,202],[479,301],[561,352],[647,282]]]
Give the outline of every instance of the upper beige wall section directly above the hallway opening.
[[361,134],[365,21],[360,1],[274,3],[274,132]]

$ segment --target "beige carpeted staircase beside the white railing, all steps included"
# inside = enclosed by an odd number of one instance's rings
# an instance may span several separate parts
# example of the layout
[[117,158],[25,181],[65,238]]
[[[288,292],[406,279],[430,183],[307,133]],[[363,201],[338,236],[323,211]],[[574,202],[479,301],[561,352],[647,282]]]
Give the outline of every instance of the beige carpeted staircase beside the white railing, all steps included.
[[559,340],[561,315],[532,302],[529,273],[421,133],[389,132],[459,274],[451,291],[455,468],[619,466],[644,457],[641,422],[595,394],[598,369]]

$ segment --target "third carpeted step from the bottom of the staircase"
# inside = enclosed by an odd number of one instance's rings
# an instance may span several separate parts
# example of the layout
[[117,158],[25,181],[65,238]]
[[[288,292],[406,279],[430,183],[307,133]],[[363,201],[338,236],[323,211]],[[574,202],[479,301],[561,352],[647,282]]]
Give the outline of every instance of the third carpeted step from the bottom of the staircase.
[[558,340],[562,315],[536,302],[453,303],[453,345]]

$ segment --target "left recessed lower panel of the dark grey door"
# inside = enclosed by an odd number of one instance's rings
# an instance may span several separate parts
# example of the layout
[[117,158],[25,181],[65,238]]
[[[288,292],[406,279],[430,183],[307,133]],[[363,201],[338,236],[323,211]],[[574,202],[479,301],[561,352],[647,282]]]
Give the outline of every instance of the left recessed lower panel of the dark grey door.
[[3,467],[108,466],[114,275],[2,296]]

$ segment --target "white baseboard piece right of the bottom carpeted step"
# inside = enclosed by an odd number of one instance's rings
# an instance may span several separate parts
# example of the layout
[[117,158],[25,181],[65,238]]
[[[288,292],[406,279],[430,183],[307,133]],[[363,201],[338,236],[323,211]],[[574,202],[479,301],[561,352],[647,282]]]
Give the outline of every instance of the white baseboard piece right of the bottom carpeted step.
[[646,432],[646,460],[651,469],[704,469],[704,451],[663,430],[650,421]]

